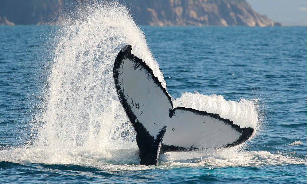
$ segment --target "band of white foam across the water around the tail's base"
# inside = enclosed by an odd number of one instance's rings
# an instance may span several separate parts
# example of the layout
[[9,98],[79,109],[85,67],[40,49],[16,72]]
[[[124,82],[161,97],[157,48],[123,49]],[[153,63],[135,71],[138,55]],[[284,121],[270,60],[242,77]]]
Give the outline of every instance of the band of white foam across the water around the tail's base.
[[[57,152],[39,149],[15,149],[0,151],[1,161],[29,164],[73,164],[84,167],[94,167],[101,170],[147,170],[147,169],[171,169],[179,167],[261,167],[265,165],[290,165],[307,164],[306,155],[297,153],[275,153],[269,151],[237,151],[237,149],[224,149],[219,151],[194,151],[194,152],[168,152],[161,155],[157,166],[139,165],[137,149],[131,152],[121,151],[113,160],[106,159],[104,152],[76,152],[58,154]],[[124,153],[125,152],[125,153]],[[118,154],[118,151],[116,152]],[[124,154],[123,154],[124,153]],[[293,154],[295,155],[293,157]],[[134,162],[131,162],[134,160]],[[56,166],[55,166],[56,167]]]

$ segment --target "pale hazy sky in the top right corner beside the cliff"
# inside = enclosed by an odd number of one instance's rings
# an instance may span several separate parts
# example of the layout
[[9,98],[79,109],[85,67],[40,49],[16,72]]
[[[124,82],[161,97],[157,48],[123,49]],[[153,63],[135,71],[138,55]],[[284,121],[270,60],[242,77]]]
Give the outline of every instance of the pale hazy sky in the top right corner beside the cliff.
[[307,0],[246,0],[254,10],[282,25],[307,26]]

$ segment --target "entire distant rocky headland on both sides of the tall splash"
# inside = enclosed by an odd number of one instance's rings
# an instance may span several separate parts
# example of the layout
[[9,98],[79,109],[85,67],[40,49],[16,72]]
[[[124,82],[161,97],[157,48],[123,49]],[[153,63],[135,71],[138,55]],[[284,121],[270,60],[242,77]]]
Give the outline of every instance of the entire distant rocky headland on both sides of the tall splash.
[[[93,0],[0,0],[0,17],[17,24],[56,24]],[[100,2],[96,0],[96,2]],[[273,26],[245,0],[119,0],[140,25]],[[275,23],[276,25],[276,23]]]

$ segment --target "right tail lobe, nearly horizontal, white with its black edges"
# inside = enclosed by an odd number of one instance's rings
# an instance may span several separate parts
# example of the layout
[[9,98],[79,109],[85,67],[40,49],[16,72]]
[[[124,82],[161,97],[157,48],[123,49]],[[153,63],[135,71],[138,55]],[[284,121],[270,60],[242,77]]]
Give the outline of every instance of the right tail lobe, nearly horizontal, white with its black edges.
[[172,112],[163,138],[163,152],[232,147],[248,140],[254,132],[253,128],[241,128],[206,111],[176,107]]

